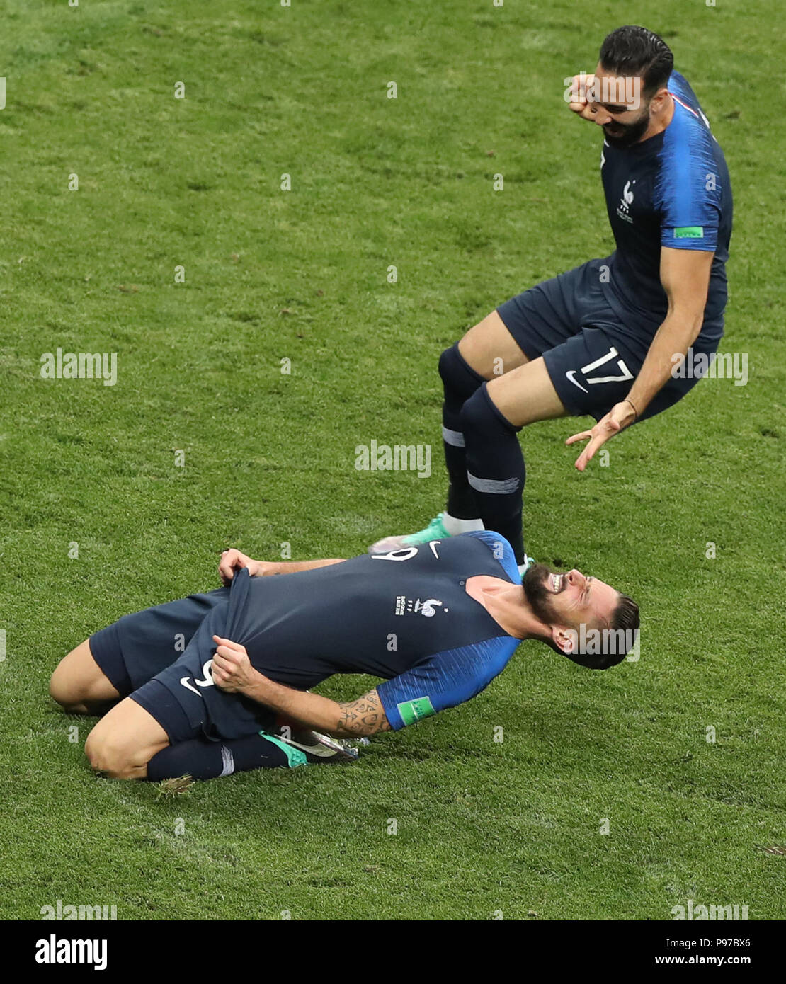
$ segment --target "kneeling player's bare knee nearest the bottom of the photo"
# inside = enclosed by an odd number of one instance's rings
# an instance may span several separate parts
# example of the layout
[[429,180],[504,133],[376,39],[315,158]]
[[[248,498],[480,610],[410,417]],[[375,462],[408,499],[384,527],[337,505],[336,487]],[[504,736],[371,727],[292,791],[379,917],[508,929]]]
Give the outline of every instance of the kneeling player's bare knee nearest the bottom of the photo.
[[91,769],[113,779],[144,779],[169,738],[150,711],[130,697],[105,714],[85,742]]

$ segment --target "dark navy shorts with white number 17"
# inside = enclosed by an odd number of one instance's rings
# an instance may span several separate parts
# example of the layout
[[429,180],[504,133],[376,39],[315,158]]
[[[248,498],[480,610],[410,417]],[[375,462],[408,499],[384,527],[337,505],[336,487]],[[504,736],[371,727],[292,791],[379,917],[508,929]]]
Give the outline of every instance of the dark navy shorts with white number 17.
[[[603,291],[600,267],[589,260],[575,270],[530,287],[497,308],[526,357],[543,356],[557,395],[574,416],[600,420],[625,400],[660,319],[623,321]],[[717,331],[710,334],[718,335]],[[716,351],[720,338],[695,339],[694,351]],[[674,405],[698,382],[670,379],[641,414],[645,420]]]

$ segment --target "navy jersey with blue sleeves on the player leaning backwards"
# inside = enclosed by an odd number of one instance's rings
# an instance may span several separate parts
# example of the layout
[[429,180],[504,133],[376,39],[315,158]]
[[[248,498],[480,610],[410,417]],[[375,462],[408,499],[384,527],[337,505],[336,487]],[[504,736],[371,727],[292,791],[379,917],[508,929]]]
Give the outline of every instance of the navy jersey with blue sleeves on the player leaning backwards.
[[244,574],[232,585],[226,632],[252,664],[299,689],[334,673],[383,677],[393,730],[474,697],[520,642],[465,589],[475,575],[520,584],[513,548],[494,532],[285,577]]

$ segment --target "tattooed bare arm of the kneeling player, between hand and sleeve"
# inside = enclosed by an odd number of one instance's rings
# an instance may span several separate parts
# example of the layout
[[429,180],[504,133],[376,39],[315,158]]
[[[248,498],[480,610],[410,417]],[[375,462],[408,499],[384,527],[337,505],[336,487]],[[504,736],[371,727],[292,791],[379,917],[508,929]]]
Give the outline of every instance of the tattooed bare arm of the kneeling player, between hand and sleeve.
[[253,683],[244,687],[242,693],[299,724],[335,738],[356,738],[391,730],[376,690],[356,701],[337,704],[321,694],[283,687],[255,671]]

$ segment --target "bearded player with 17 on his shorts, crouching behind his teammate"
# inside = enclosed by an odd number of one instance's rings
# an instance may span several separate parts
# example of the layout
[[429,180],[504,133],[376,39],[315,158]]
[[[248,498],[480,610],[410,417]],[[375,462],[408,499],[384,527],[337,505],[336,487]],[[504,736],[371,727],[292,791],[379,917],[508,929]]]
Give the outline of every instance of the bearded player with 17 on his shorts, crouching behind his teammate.
[[[575,466],[638,420],[681,400],[675,378],[693,346],[708,364],[723,335],[732,194],[723,152],[672,52],[652,31],[612,31],[594,76],[575,76],[570,107],[603,131],[600,172],[616,250],[502,304],[440,357],[446,511],[391,536],[387,551],[496,529],[524,562],[524,460],[517,432],[590,414]],[[703,359],[701,360],[704,361]]]

